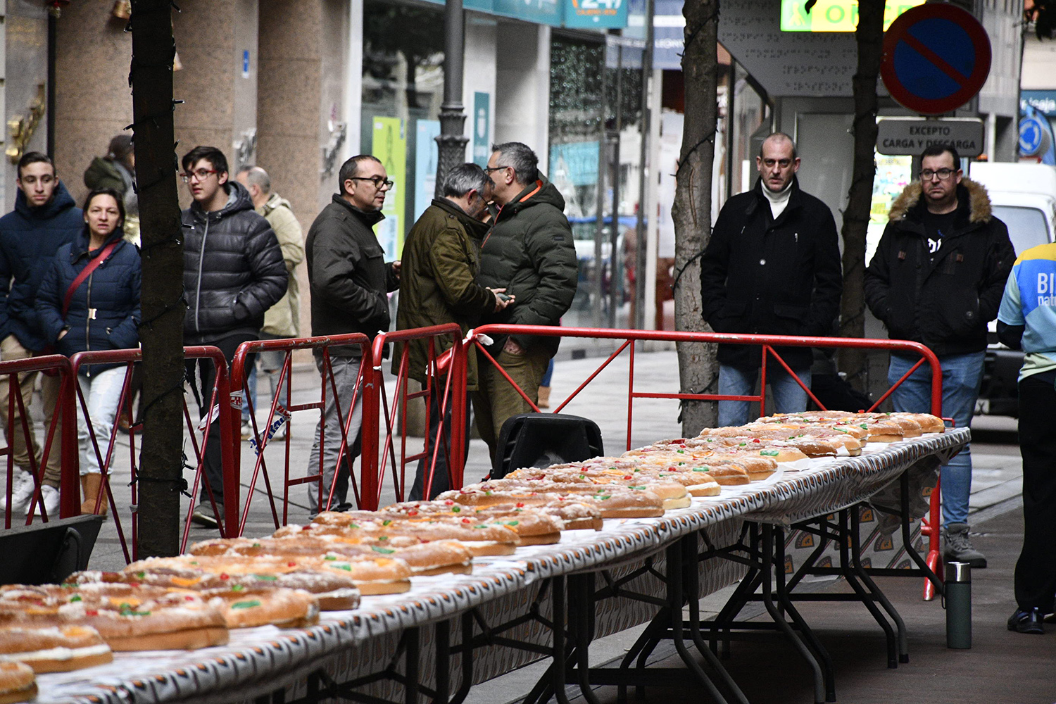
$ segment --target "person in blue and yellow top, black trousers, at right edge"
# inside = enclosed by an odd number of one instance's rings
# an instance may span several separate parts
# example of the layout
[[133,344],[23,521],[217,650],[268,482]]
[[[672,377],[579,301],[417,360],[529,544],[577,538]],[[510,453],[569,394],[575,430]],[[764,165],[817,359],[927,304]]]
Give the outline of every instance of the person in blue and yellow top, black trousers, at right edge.
[[997,334],[1026,353],[1019,372],[1023,549],[1008,630],[1041,633],[1056,600],[1056,244],[1032,247],[1016,260]]

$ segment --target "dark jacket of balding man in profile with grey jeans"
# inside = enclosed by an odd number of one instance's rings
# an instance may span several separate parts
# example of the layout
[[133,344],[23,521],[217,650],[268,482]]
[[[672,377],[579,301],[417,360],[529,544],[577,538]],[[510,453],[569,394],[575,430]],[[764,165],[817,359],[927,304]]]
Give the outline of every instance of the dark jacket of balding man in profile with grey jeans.
[[[374,234],[384,215],[366,212],[335,194],[308,229],[305,252],[312,291],[312,335],[386,331],[389,291],[399,286]],[[333,347],[332,355],[359,357],[358,346]]]

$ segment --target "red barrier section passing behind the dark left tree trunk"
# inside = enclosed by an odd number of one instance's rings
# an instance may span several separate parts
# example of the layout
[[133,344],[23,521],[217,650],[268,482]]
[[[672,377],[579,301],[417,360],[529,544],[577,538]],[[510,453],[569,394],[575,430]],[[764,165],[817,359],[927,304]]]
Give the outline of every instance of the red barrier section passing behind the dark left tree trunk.
[[[209,407],[214,407],[218,404],[223,411],[225,404],[225,399],[228,395],[228,377],[227,377],[227,360],[224,358],[224,354],[216,347],[212,346],[191,346],[184,347],[184,358],[185,359],[208,359],[211,360],[213,366],[216,370],[216,381],[213,385],[212,395],[209,399]],[[106,457],[99,449],[99,438],[95,436],[95,429],[92,426],[91,420],[89,419],[88,433],[89,441],[92,445],[92,452],[95,453],[96,459],[99,463],[100,474],[102,475],[102,490],[106,492],[107,497],[110,500],[110,511],[114,518],[114,527],[117,529],[117,536],[121,544],[121,550],[125,553],[125,560],[132,562],[138,559],[138,549],[137,549],[137,530],[138,530],[138,510],[137,510],[137,491],[136,491],[136,478],[137,478],[137,461],[138,454],[136,453],[135,445],[135,433],[129,434],[129,465],[131,472],[131,488],[132,488],[132,514],[130,517],[130,532],[131,532],[131,549],[129,548],[129,539],[126,538],[125,527],[121,522],[120,512],[117,510],[117,503],[114,501],[113,491],[110,488],[110,476],[111,468],[113,465],[114,459],[114,449],[115,439],[118,433],[118,423],[120,419],[120,408],[126,407],[129,401],[130,386],[132,370],[135,363],[142,361],[143,356],[139,349],[107,349],[98,351],[83,351],[78,353],[70,358],[69,365],[72,369],[71,380],[76,379],[76,376],[80,367],[88,364],[120,364],[126,367],[125,380],[121,386],[121,396],[118,401],[117,408],[118,413],[114,417],[114,422],[110,429],[109,438],[109,450]],[[86,418],[88,415],[88,405],[86,403],[84,397],[81,394],[79,384],[72,384],[72,388],[63,395],[63,398],[69,397],[71,403],[76,403],[80,408],[80,413],[83,414]],[[221,415],[219,418],[222,418]],[[195,423],[191,419],[190,410],[187,406],[186,401],[184,402],[184,419],[187,424],[187,431],[190,436],[191,448],[194,453],[195,467],[194,467],[194,480],[190,487],[190,506],[187,509],[187,518],[184,521],[183,536],[180,543],[180,550],[183,552],[187,549],[187,543],[190,536],[190,517],[194,513],[195,503],[197,501],[199,495],[199,482],[205,481],[205,490],[210,498],[210,503],[212,505],[212,510],[215,511],[215,500],[213,499],[212,488],[209,486],[208,477],[204,472],[204,457],[205,450],[208,444],[209,430],[212,426],[213,421],[212,413],[208,413],[202,419],[201,422]],[[204,423],[204,425],[203,425]],[[201,427],[200,427],[201,426]],[[63,426],[64,427],[64,426]],[[73,477],[73,481],[77,481],[79,476],[79,464],[80,456],[77,452],[77,440],[76,440],[76,425],[73,426],[74,433],[74,456],[71,460],[70,471],[67,472],[68,467],[63,463],[63,471],[65,474],[70,474]],[[202,442],[199,443],[196,432],[201,430],[202,432]],[[221,461],[224,468],[224,499],[225,509],[224,516],[220,521],[220,533],[222,536],[231,537],[238,535],[238,533],[228,529],[228,527],[238,526],[238,507],[239,507],[239,481],[238,476],[232,474],[228,468],[233,467],[233,457],[235,455],[237,443],[230,435],[230,429],[221,423],[220,426],[220,442],[221,442]],[[101,503],[102,496],[96,499],[95,510],[98,511],[99,505]],[[79,511],[80,505],[78,502],[77,510]],[[76,515],[76,512],[73,514]]]

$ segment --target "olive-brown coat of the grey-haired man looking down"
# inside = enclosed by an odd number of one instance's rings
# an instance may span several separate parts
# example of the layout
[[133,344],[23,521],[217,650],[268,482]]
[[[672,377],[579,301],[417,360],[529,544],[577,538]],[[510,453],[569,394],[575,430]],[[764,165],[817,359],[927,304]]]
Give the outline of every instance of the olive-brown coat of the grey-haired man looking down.
[[[480,268],[480,241],[488,229],[451,201],[433,199],[403,243],[396,329],[457,323],[465,335],[495,309],[494,293],[474,281]],[[433,344],[439,355],[451,346],[451,339]],[[412,340],[409,345],[409,374],[425,384],[429,342]],[[400,363],[399,349],[393,357],[393,374]],[[476,355],[468,356],[466,384],[468,391],[476,389]]]

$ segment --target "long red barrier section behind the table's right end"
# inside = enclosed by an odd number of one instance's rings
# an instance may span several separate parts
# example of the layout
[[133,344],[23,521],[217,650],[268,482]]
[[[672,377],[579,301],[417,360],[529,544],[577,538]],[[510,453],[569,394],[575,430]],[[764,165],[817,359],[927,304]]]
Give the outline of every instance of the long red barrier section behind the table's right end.
[[[609,355],[608,359],[601,363],[598,369],[591,374],[582,384],[580,384],[571,395],[565,399],[563,402],[558,403],[553,413],[560,413],[569,401],[576,398],[577,395],[589,384],[595,377],[601,373],[614,359],[616,359],[624,349],[628,346],[630,347],[630,370],[627,375],[627,450],[630,450],[630,435],[631,426],[634,422],[634,402],[635,399],[645,399],[645,398],[665,398],[665,399],[679,399],[679,400],[696,400],[696,401],[718,401],[718,400],[731,400],[731,401],[757,401],[759,403],[760,415],[762,408],[766,407],[766,391],[767,391],[767,361],[770,357],[773,357],[781,368],[789,374],[796,382],[807,392],[808,397],[817,404],[818,407],[825,408],[825,406],[814,397],[810,388],[804,384],[789,367],[789,365],[781,359],[780,355],[777,353],[775,347],[852,347],[852,348],[866,348],[866,349],[886,349],[890,351],[905,351],[913,353],[920,355],[921,359],[914,364],[905,375],[902,376],[875,403],[868,408],[868,411],[874,411],[880,406],[881,403],[890,396],[891,392],[899,386],[902,382],[906,381],[922,364],[925,362],[931,368],[931,414],[935,416],[942,417],[942,367],[939,363],[939,358],[930,349],[918,342],[909,342],[907,340],[866,340],[866,339],[850,339],[850,338],[806,338],[806,337],[786,337],[778,335],[733,335],[723,332],[670,332],[662,330],[615,330],[607,328],[578,328],[578,327],[534,327],[531,325],[484,325],[476,328],[473,331],[473,336],[467,338],[465,344],[463,345],[464,354],[469,354],[472,347],[476,347],[483,357],[488,360],[490,364],[493,364],[499,373],[506,378],[506,380],[513,385],[514,388],[521,394],[521,396],[528,402],[528,404],[538,413],[539,407],[531,402],[524,391],[518,388],[517,385],[510,379],[509,375],[498,365],[498,363],[488,354],[484,346],[479,342],[482,336],[490,335],[536,335],[536,336],[547,336],[547,337],[565,337],[565,338],[592,338],[602,340],[622,340],[621,344],[616,351]],[[759,395],[758,396],[723,396],[720,394],[642,394],[635,392],[635,345],[634,342],[653,340],[653,341],[663,341],[663,342],[709,342],[709,343],[727,343],[727,344],[741,344],[741,345],[760,345],[762,347],[762,364],[759,374]],[[926,562],[928,567],[942,577],[942,560],[939,551],[939,529],[940,517],[939,517],[939,506],[940,506],[940,483],[936,483],[935,490],[931,492],[930,506],[928,511],[928,516],[922,521],[921,534],[928,537],[928,554]],[[924,581],[924,600],[928,601],[934,598],[935,588],[930,581]]]

